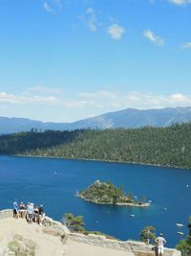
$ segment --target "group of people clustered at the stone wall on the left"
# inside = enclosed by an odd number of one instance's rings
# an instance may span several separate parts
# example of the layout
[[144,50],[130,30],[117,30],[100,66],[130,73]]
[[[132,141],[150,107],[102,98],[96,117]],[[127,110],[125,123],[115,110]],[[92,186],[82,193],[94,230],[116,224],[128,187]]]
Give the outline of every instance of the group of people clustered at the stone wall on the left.
[[23,201],[18,204],[15,199],[13,202],[13,218],[22,218],[26,219],[28,223],[36,222],[39,225],[42,225],[45,219],[43,205],[34,206],[32,202],[28,202],[26,205]]

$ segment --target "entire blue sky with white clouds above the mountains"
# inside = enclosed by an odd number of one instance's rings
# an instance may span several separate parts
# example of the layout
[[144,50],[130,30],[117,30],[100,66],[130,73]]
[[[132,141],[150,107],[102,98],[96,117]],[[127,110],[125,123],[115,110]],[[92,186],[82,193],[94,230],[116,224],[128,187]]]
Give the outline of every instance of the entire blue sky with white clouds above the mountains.
[[191,105],[191,0],[0,0],[0,116]]

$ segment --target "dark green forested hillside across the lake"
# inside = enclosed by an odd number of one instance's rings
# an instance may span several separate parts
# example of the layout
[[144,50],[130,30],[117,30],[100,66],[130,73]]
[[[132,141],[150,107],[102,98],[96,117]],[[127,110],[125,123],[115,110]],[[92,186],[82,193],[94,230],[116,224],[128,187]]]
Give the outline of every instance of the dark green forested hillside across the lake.
[[191,124],[168,128],[32,130],[0,136],[0,153],[191,168]]

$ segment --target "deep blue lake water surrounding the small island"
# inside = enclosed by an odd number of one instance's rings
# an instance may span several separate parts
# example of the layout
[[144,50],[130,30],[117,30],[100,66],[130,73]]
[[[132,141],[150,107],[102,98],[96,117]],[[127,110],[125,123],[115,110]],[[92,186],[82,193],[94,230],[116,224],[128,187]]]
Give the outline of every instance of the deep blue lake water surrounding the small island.
[[[142,194],[153,201],[148,208],[96,205],[76,198],[76,191],[96,179],[122,185],[125,192]],[[189,185],[189,186],[186,186]],[[153,166],[0,156],[0,209],[11,208],[12,200],[44,204],[46,214],[61,220],[63,213],[84,216],[89,230],[100,230],[121,240],[138,240],[145,225],[162,232],[168,246],[187,233],[191,215],[191,170]],[[135,215],[135,218],[130,215]],[[185,224],[178,227],[177,222]]]

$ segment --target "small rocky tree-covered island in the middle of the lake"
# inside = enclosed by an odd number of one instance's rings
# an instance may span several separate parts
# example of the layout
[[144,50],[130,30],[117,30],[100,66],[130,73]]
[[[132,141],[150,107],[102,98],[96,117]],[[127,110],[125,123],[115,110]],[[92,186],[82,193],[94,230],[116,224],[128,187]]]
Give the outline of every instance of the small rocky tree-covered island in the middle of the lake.
[[146,201],[145,196],[141,196],[141,199],[138,200],[132,193],[124,193],[122,186],[117,188],[110,181],[100,182],[99,180],[96,180],[87,189],[77,192],[76,196],[97,204],[138,207],[146,207],[150,205],[150,203]]

